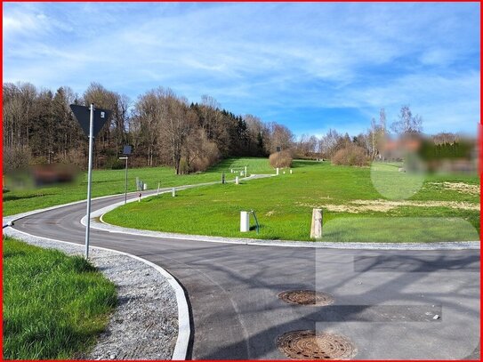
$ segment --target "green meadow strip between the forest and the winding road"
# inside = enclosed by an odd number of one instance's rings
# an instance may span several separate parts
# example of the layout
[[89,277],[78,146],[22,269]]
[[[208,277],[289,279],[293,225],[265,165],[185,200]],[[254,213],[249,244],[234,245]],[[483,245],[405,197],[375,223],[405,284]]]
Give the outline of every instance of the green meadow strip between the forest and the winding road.
[[[158,182],[161,188],[165,188],[221,181],[222,172],[226,173],[226,180],[233,180],[236,173],[230,173],[230,170],[243,170],[245,165],[250,165],[248,173],[273,173],[273,170],[268,167],[268,163],[259,158],[226,159],[205,173],[188,175],[175,175],[173,168],[169,167],[136,168],[128,170],[128,190],[135,191],[136,177],[148,183],[149,189],[157,189]],[[85,199],[86,190],[87,176],[84,173],[80,176],[80,182],[74,185],[4,192],[4,215],[23,213],[39,208],[83,200]],[[121,194],[124,192],[125,170],[93,171],[93,197]]]

